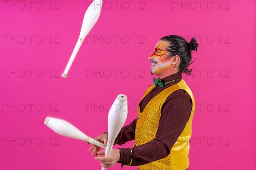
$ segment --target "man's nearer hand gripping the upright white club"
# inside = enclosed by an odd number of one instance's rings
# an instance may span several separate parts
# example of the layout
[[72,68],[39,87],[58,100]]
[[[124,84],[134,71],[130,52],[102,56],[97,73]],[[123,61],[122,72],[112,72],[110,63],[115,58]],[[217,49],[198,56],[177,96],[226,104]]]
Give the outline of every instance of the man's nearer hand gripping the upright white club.
[[100,161],[102,167],[110,168],[116,164],[117,161],[120,161],[120,150],[119,149],[112,149],[111,154],[108,156],[105,155],[106,150],[99,151],[99,156],[96,156],[95,159]]

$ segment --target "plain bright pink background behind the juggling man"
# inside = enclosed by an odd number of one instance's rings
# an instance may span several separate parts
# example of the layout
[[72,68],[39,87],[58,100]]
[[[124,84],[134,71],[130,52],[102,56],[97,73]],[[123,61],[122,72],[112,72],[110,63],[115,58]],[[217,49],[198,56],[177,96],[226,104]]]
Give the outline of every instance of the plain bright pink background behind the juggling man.
[[81,46],[64,79],[90,2],[0,2],[0,168],[100,169],[83,141],[59,136],[44,119],[65,119],[95,137],[107,131],[109,105],[122,93],[128,125],[152,83],[148,56],[161,37],[177,34],[199,44],[194,75],[183,75],[197,107],[189,169],[256,169],[256,1],[104,1],[93,40]]

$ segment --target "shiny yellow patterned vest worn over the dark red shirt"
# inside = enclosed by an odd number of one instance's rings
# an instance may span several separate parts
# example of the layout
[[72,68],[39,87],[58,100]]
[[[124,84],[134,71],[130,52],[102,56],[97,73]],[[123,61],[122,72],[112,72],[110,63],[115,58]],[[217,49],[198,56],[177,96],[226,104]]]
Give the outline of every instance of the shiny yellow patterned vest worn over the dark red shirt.
[[[148,90],[143,95],[142,100],[153,88],[154,85],[151,85],[148,88]],[[192,119],[195,111],[195,99],[192,91],[189,89],[183,79],[181,79],[181,81],[177,84],[172,85],[157,94],[157,96],[155,96],[148,102],[142,113],[140,113],[139,105],[134,138],[134,147],[150,142],[155,138],[163,103],[172,92],[179,89],[185,90],[189,94],[193,102],[189,120],[186,123],[183,132],[180,134],[174,146],[172,147],[170,154],[163,159],[159,159],[157,161],[138,166],[140,170],[186,170],[189,167],[189,139],[191,137],[192,131]]]

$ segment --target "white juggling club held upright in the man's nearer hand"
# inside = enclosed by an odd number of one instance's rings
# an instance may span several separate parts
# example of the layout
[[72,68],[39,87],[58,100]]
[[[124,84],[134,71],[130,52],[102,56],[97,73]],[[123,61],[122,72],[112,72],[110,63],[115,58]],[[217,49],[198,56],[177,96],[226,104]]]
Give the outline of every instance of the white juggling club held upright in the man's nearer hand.
[[[127,112],[127,96],[119,94],[108,112],[108,144],[105,156],[110,155],[116,136],[125,124]],[[105,169],[102,167],[102,170]]]

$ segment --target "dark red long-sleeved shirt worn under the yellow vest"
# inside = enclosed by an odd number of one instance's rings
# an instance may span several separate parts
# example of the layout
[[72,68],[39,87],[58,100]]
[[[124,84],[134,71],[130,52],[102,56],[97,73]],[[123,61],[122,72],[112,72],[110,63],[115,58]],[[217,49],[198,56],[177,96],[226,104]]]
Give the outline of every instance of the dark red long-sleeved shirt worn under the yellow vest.
[[[177,72],[168,77],[161,79],[163,83],[173,82],[166,84],[163,88],[157,85],[151,90],[147,96],[140,102],[141,111],[144,110],[148,102],[164,89],[177,84],[182,79],[181,72]],[[165,158],[169,155],[170,150],[177,141],[180,134],[183,132],[186,122],[188,122],[192,111],[192,100],[186,91],[180,89],[170,94],[166,101],[163,103],[162,112],[159,120],[158,130],[156,137],[143,145],[134,146],[133,159],[131,166],[138,166],[147,164],[159,159]],[[135,128],[137,119],[134,119],[130,125],[122,127],[117,144],[122,145],[125,142],[134,140]],[[131,150],[130,148],[121,148],[121,161],[123,165],[130,164]],[[122,167],[121,167],[122,168]]]

